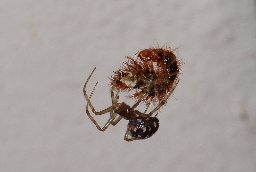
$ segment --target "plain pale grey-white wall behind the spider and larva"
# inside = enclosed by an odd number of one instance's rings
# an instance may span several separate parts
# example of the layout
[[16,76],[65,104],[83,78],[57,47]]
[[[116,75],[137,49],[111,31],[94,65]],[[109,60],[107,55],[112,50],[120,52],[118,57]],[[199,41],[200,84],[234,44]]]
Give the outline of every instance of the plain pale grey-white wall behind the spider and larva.
[[[0,2],[0,171],[256,171],[252,0]],[[111,105],[108,77],[149,43],[180,45],[184,75],[156,135],[124,141],[85,113]],[[102,126],[109,114],[96,118]]]

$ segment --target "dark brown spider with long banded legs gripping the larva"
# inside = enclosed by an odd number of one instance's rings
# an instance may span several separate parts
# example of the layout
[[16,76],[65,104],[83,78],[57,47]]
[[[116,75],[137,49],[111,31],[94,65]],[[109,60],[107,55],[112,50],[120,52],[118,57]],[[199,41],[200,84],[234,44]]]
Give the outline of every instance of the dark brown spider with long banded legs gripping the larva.
[[[177,86],[179,80],[175,83],[175,85],[172,87],[172,90],[170,91],[170,93],[168,94],[168,96],[158,104],[158,106],[156,106],[150,113],[146,113],[146,111],[148,110],[149,105],[147,106],[146,110],[144,113],[141,113],[138,110],[134,110],[139,104],[140,102],[143,100],[143,98],[147,95],[147,92],[144,92],[141,97],[138,99],[138,101],[131,107],[127,104],[123,103],[118,103],[118,98],[119,95],[117,92],[116,96],[114,96],[114,88],[115,88],[115,83],[117,81],[118,76],[116,77],[115,81],[113,82],[110,94],[111,94],[111,100],[112,100],[112,106],[108,107],[107,109],[104,109],[102,111],[97,112],[95,110],[95,108],[93,107],[92,103],[91,103],[91,97],[92,94],[98,84],[98,82],[95,84],[92,93],[90,94],[90,96],[88,97],[87,93],[86,93],[86,85],[88,83],[88,81],[90,80],[90,78],[92,77],[93,72],[95,71],[96,67],[93,69],[92,73],[90,74],[90,76],[88,77],[88,79],[86,80],[85,84],[84,84],[84,89],[83,89],[83,93],[84,93],[84,97],[87,101],[87,105],[86,105],[86,113],[89,116],[89,118],[92,120],[92,122],[95,124],[95,126],[97,127],[97,129],[99,129],[100,131],[105,131],[110,124],[112,125],[116,125],[122,118],[129,120],[128,124],[127,124],[127,130],[125,132],[125,136],[124,136],[124,140],[125,141],[133,141],[133,140],[137,140],[137,139],[146,139],[148,137],[153,136],[157,129],[159,128],[159,120],[156,118],[157,114],[154,117],[151,117],[153,115],[153,113],[155,113],[161,106],[163,106],[165,104],[165,102],[167,101],[167,99],[172,95],[173,90],[175,89],[175,87]],[[152,86],[149,85],[149,87]],[[102,115],[105,113],[110,112],[110,118],[107,121],[107,123],[104,125],[103,128],[100,127],[100,125],[94,120],[94,118],[92,117],[92,115],[90,114],[88,107],[91,107],[92,112],[95,115]],[[117,114],[119,115],[119,117],[115,120]],[[115,120],[115,121],[114,121]],[[129,134],[131,136],[131,138],[129,137]]]

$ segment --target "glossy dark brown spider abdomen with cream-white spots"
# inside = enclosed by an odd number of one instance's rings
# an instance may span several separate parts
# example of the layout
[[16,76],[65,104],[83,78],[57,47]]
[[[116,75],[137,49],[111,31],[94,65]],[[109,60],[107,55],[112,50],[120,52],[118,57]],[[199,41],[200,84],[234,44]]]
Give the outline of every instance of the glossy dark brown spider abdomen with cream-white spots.
[[136,117],[129,121],[127,128],[130,134],[137,139],[146,139],[153,136],[159,128],[159,120],[156,117]]

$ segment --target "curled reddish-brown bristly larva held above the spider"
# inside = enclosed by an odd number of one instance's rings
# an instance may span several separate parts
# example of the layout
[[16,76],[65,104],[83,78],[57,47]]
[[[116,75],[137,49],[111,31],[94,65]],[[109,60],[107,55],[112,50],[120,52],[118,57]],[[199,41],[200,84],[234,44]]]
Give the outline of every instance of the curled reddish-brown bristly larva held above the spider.
[[113,71],[109,85],[112,87],[115,83],[116,91],[131,92],[128,97],[136,100],[146,94],[142,100],[146,106],[159,104],[182,74],[182,60],[174,55],[179,48],[172,49],[170,45],[157,43],[157,46],[138,51],[134,59],[126,56],[123,65]]

